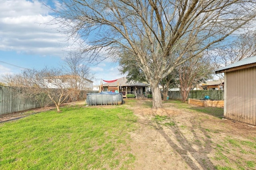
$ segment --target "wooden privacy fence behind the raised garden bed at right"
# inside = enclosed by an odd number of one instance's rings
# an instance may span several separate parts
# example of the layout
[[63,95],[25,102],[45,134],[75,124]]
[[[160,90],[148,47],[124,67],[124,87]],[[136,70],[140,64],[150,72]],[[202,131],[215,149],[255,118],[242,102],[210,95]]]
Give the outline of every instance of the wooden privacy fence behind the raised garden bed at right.
[[[169,99],[182,100],[180,91],[169,91]],[[204,99],[204,96],[210,96],[211,100],[224,100],[224,90],[191,90],[188,98]]]

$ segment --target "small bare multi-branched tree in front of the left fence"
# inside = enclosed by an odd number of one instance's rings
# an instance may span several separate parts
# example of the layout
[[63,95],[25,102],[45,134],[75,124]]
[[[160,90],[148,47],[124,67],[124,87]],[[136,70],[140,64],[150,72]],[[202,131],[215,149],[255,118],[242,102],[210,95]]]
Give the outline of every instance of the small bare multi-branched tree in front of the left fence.
[[20,74],[9,74],[5,80],[9,86],[24,87],[28,95],[46,94],[55,104],[57,112],[60,112],[60,105],[72,92],[72,84],[64,82],[63,78],[62,69],[45,67],[42,70],[23,70]]

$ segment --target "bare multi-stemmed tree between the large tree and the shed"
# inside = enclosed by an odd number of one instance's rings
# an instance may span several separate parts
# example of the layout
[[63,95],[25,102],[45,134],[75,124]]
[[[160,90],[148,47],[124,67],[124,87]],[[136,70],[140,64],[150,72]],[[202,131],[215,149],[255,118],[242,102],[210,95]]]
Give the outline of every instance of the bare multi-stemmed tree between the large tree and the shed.
[[177,67],[178,80],[180,84],[180,94],[182,101],[188,98],[190,90],[212,78],[214,68],[210,64],[210,59],[206,57],[194,57]]

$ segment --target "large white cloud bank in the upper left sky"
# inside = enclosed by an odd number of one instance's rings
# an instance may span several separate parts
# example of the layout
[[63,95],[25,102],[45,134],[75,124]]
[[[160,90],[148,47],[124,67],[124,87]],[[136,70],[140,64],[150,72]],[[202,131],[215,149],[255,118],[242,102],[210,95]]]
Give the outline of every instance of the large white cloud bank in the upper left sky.
[[0,51],[62,56],[66,37],[56,33],[50,9],[38,0],[0,0]]

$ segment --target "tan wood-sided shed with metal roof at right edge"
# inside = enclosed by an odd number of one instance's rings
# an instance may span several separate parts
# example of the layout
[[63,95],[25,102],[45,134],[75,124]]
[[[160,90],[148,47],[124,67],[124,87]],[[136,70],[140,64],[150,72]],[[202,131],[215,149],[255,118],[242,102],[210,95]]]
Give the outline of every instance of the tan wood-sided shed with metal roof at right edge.
[[215,71],[224,73],[224,117],[256,125],[256,56]]

